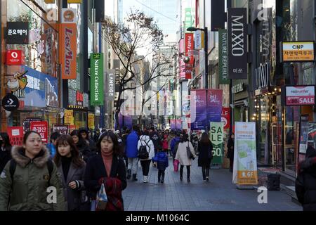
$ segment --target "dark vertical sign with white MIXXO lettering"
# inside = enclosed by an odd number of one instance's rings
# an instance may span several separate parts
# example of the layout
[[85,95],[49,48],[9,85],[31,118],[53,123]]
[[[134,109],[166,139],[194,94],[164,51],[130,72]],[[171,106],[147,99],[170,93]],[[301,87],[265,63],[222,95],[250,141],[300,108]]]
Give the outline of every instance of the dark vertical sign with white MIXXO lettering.
[[247,79],[247,11],[228,9],[228,74],[229,79]]

